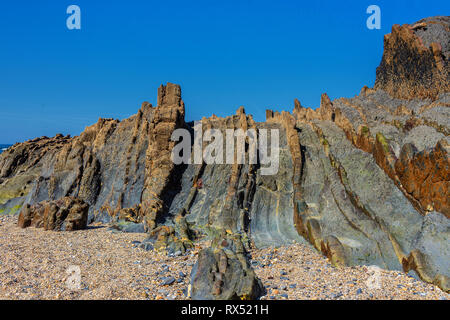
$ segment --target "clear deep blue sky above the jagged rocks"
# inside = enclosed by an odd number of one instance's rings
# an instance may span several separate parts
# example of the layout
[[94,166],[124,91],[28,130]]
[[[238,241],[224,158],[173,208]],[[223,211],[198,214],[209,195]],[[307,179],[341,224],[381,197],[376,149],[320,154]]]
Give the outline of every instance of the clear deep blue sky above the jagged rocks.
[[[66,8],[81,8],[68,30]],[[366,8],[381,7],[381,30]],[[383,35],[394,23],[449,15],[449,1],[171,0],[3,1],[0,143],[78,135],[98,117],[123,119],[182,86],[187,120],[244,105],[316,108],[373,86]]]

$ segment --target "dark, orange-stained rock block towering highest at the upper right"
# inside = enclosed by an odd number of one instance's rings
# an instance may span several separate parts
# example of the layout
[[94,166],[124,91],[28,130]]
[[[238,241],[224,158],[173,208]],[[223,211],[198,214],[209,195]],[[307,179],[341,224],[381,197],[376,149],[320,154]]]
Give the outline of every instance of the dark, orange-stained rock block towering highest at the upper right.
[[432,98],[449,91],[450,17],[394,25],[384,37],[376,89],[402,98]]

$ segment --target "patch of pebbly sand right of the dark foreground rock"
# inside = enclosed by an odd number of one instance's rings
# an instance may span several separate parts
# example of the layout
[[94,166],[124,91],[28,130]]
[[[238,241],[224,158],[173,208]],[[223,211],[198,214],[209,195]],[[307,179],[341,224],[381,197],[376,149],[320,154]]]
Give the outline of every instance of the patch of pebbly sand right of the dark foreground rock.
[[309,245],[253,251],[263,300],[448,300],[450,295],[401,271],[334,267]]

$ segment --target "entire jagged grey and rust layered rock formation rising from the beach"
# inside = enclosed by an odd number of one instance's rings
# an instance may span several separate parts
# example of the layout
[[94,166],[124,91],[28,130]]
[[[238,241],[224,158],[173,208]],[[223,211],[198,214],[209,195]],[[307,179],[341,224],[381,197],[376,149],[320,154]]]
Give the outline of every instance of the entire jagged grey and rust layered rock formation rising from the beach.
[[323,94],[316,110],[295,100],[292,112],[267,110],[265,122],[243,108],[201,120],[204,130],[278,129],[275,175],[262,175],[260,162],[175,165],[171,134],[194,124],[180,87],[162,85],[157,105],[144,102],[129,119],[3,152],[0,212],[20,212],[22,227],[71,230],[86,225],[78,207],[89,223],[145,230],[149,248],[169,252],[209,237],[191,275],[195,299],[257,298],[247,249],[293,241],[335,265],[413,272],[449,292],[449,55],[449,17],[394,25],[374,88]]

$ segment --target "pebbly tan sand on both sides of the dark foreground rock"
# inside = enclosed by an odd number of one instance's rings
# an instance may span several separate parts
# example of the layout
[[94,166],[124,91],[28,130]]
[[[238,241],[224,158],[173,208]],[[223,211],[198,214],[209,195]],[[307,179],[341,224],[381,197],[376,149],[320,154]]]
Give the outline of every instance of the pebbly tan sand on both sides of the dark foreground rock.
[[[185,299],[201,243],[178,257],[145,251],[145,234],[90,226],[74,232],[21,229],[0,216],[0,299]],[[252,250],[262,299],[449,299],[401,272],[335,268],[309,246]]]

